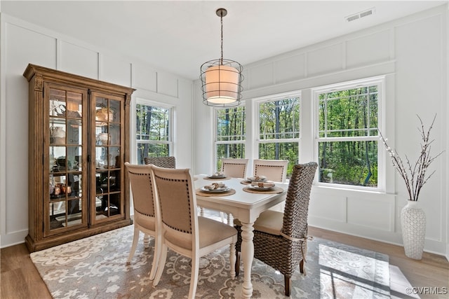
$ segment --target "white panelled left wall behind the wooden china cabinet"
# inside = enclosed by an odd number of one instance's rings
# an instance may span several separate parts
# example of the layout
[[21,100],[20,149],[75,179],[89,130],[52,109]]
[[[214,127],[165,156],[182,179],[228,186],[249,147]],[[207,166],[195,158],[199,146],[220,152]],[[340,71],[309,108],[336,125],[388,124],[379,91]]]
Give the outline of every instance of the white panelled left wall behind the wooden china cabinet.
[[182,151],[174,154],[179,167],[192,165],[192,125],[185,125],[193,123],[192,81],[4,13],[0,18],[0,247],[22,243],[28,233],[28,83],[22,74],[29,63],[133,87],[132,106],[139,97],[182,111],[175,115],[175,148]]

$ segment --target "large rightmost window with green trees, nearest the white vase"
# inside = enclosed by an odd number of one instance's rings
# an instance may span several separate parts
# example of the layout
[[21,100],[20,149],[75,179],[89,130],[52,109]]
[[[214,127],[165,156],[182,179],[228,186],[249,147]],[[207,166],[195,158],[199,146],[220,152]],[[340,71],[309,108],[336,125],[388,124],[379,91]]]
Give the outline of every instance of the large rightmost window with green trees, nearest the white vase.
[[377,188],[382,79],[314,90],[319,182]]

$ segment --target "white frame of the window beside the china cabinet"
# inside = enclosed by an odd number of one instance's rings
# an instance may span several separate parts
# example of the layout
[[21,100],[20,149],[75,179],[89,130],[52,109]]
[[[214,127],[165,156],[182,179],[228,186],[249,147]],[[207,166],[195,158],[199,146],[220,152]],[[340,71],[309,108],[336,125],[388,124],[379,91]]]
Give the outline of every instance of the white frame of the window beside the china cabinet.
[[[163,109],[168,109],[168,113],[169,113],[169,120],[168,120],[168,140],[167,141],[153,141],[153,140],[138,140],[137,139],[137,132],[135,132],[135,126],[137,123],[137,114],[135,113],[137,111],[137,105],[145,105],[145,106],[153,106],[153,107],[158,107],[158,108],[163,108]],[[152,101],[149,99],[142,99],[142,98],[137,98],[135,101],[135,105],[133,105],[132,107],[133,109],[133,127],[131,130],[133,130],[133,148],[134,148],[134,153],[135,153],[135,162],[137,162],[137,148],[138,148],[138,143],[145,143],[145,144],[168,144],[169,147],[169,155],[174,155],[175,152],[175,142],[173,140],[173,136],[174,136],[174,127],[175,127],[175,106],[173,105],[167,105],[167,104],[161,104],[160,102],[156,102],[156,101]]]

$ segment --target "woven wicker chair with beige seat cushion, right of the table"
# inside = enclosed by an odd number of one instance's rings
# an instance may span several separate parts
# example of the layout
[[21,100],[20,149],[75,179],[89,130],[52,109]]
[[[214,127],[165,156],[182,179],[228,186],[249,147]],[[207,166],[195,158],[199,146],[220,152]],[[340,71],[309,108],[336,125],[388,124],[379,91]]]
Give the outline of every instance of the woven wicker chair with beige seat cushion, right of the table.
[[[296,267],[304,272],[307,253],[307,214],[311,184],[318,167],[316,162],[295,165],[288,183],[286,207],[282,212],[267,210],[254,223],[254,257],[284,275],[286,296],[291,292],[291,277]],[[236,243],[236,274],[239,274],[241,223],[234,220],[239,231]]]

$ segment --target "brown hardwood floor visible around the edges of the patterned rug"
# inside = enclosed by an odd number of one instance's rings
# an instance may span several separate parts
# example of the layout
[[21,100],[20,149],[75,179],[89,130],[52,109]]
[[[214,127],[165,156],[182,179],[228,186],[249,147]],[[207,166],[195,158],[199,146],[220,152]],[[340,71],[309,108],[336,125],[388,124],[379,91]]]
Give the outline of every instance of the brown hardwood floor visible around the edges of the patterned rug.
[[[412,260],[404,255],[402,246],[312,227],[309,227],[309,235],[385,253],[389,255],[390,265],[401,269],[412,286],[423,287],[420,298],[449,298],[449,262],[443,256],[424,252],[422,260]],[[1,299],[51,298],[46,285],[29,258],[25,244],[1,249],[0,256]],[[394,275],[396,274],[391,273],[391,276]],[[417,298],[417,295],[408,295],[405,288],[401,285],[395,288],[392,286],[392,297]],[[432,292],[439,294],[429,294]]]

